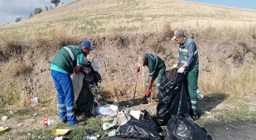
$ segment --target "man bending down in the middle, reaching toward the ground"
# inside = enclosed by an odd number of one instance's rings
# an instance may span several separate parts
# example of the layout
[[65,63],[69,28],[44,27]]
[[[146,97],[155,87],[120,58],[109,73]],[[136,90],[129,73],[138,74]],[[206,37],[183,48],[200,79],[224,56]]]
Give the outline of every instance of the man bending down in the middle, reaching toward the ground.
[[147,66],[149,70],[148,78],[146,81],[146,94],[143,97],[143,100],[147,100],[151,94],[151,88],[154,80],[156,80],[157,90],[160,86],[160,83],[163,79],[164,72],[166,70],[166,66],[164,61],[157,56],[156,54],[142,54],[138,58],[138,66],[136,68],[136,72],[140,72],[140,67]]

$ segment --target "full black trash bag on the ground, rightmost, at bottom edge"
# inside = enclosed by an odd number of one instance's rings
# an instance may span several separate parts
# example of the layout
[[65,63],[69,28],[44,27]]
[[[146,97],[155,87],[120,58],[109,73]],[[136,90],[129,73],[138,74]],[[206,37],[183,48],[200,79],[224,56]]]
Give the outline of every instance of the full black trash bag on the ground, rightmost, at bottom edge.
[[167,136],[171,140],[208,140],[207,134],[188,114],[176,114],[170,118]]

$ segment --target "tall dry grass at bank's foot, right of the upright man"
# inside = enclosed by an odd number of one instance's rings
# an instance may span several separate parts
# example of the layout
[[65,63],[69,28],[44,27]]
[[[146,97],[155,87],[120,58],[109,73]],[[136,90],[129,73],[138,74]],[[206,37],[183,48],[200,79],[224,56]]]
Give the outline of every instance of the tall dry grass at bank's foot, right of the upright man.
[[206,94],[226,93],[230,98],[242,100],[245,96],[251,96],[254,100],[256,94],[255,66],[243,64],[238,69],[220,66],[218,63],[212,66],[211,72],[204,72],[199,76],[198,84]]

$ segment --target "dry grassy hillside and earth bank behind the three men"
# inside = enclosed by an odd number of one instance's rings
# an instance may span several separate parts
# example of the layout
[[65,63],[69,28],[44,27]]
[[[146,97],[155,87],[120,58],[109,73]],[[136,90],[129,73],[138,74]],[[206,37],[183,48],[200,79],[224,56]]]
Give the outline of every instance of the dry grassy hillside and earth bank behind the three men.
[[[89,60],[104,58],[100,70],[104,94],[130,100],[133,95],[126,92],[134,92],[138,55],[156,53],[172,66],[178,45],[170,38],[178,28],[198,47],[198,82],[206,98],[199,105],[203,116],[212,120],[205,114],[210,110],[213,120],[255,120],[256,10],[178,0],[76,0],[0,26],[0,116],[9,110],[25,112],[12,121],[29,118],[35,111],[43,112],[41,118],[55,116],[51,59],[63,46],[83,39],[96,48]],[[147,74],[148,69],[142,68],[136,98],[145,92]],[[28,109],[27,99],[35,96],[40,105]],[[220,103],[228,105],[212,110]]]

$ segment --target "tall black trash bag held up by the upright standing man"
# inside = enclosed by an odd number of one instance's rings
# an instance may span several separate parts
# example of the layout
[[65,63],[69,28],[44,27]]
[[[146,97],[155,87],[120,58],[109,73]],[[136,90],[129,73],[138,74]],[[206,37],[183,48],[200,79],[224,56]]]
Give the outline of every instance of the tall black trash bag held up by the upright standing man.
[[157,123],[166,126],[171,115],[189,113],[189,102],[183,84],[184,74],[175,69],[166,71],[158,89]]

